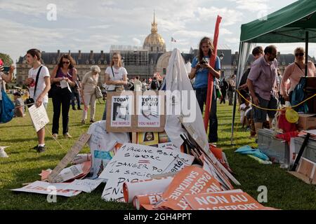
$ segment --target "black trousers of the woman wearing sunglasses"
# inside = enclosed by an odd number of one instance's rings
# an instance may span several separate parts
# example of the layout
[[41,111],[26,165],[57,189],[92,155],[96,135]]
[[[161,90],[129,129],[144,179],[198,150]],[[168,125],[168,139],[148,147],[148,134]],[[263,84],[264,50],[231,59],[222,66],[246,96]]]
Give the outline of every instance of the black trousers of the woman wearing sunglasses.
[[68,132],[68,123],[69,123],[69,109],[70,109],[70,100],[72,99],[72,93],[67,89],[60,87],[52,97],[53,99],[53,134],[58,134],[59,131],[59,118],[60,118],[60,108],[62,109],[62,134]]

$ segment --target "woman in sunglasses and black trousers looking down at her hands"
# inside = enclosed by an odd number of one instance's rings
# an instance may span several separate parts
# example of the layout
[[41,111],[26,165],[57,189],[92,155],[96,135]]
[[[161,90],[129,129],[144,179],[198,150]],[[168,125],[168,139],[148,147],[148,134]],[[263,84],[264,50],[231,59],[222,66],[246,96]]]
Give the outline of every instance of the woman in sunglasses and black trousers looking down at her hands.
[[65,138],[72,138],[68,133],[68,123],[72,99],[70,86],[74,87],[77,80],[77,69],[74,68],[74,64],[72,56],[62,55],[51,73],[51,83],[57,86],[52,95],[54,111],[52,133],[55,139],[58,138],[60,108],[62,109],[62,134]]

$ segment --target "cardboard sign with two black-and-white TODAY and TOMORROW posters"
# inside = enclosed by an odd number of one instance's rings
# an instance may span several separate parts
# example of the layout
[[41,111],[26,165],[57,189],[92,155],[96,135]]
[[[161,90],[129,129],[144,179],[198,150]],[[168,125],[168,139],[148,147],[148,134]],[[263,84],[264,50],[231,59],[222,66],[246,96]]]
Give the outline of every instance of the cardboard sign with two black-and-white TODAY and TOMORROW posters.
[[107,94],[108,132],[163,132],[164,91]]

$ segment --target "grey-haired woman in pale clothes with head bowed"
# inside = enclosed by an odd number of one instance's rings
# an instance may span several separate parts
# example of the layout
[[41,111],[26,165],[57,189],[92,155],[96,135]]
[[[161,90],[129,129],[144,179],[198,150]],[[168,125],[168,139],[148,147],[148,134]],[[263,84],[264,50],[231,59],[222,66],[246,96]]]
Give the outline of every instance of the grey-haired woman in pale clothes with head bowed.
[[81,81],[81,98],[84,99],[84,111],[82,112],[81,124],[86,123],[88,106],[91,105],[90,122],[94,123],[96,114],[96,86],[98,85],[99,73],[101,69],[98,65],[93,65],[90,71],[84,75]]

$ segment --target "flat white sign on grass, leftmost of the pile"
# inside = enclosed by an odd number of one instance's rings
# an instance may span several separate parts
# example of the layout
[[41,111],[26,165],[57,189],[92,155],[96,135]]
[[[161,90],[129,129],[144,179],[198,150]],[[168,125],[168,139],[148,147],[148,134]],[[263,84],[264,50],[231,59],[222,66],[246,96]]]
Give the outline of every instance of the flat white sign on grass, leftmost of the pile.
[[[79,190],[69,190],[67,188],[68,184],[69,183],[47,183],[44,181],[35,181],[34,183],[30,183],[23,188],[13,189],[13,191],[37,193],[43,195],[55,194],[64,197],[73,197],[81,193]],[[53,188],[55,188],[55,190]]]

